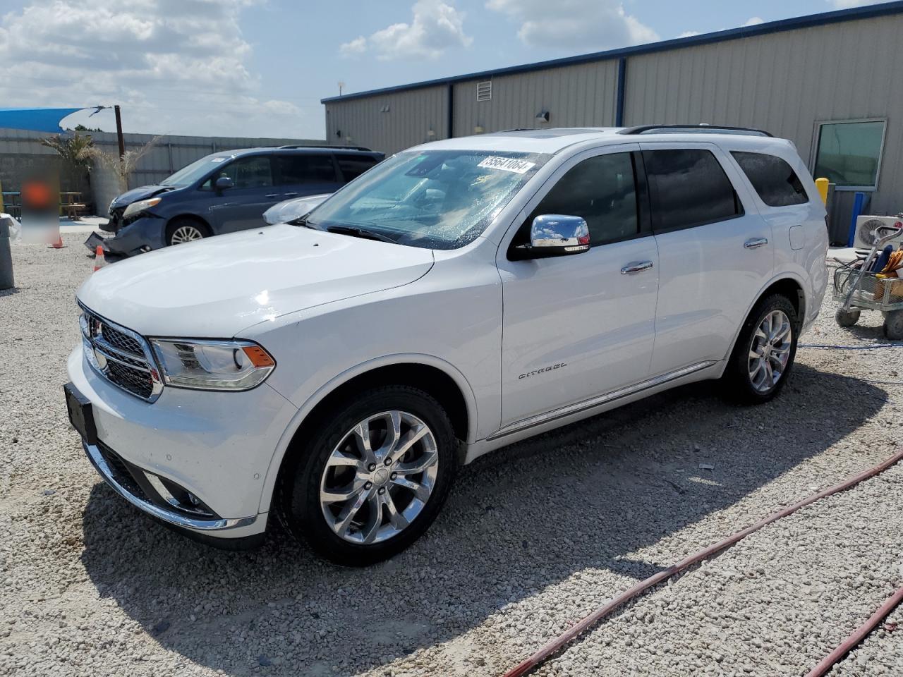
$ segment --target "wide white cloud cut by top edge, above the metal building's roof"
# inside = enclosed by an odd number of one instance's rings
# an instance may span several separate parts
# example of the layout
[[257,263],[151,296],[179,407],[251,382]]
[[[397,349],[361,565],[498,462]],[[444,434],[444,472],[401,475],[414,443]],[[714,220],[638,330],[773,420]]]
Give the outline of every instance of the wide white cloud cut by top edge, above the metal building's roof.
[[517,35],[531,47],[605,50],[659,39],[618,0],[487,0],[486,6],[519,23]]

